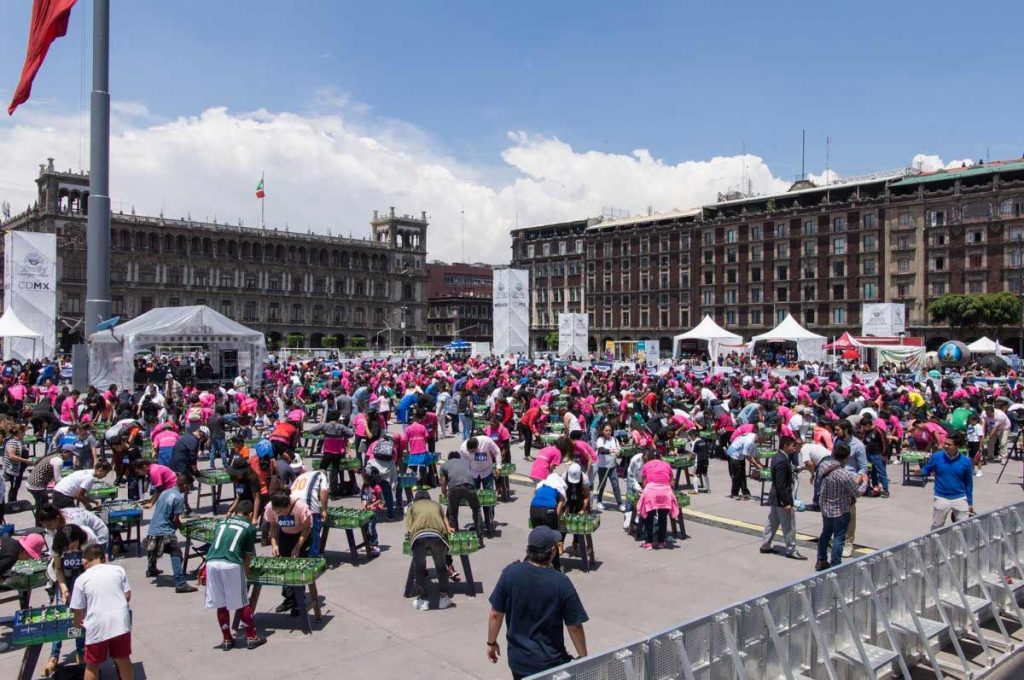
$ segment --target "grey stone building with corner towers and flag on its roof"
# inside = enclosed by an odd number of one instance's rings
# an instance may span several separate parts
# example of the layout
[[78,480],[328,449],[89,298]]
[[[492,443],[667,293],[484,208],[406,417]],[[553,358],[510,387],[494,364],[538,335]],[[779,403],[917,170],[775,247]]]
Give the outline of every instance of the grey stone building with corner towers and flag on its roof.
[[[36,183],[36,206],[3,229],[57,235],[57,338],[67,350],[82,340],[89,177],[56,171],[50,159]],[[375,211],[371,232],[345,239],[115,213],[113,313],[131,318],[154,307],[205,304],[262,331],[271,347],[289,336],[303,347],[328,336],[339,347],[422,344],[426,213]]]

